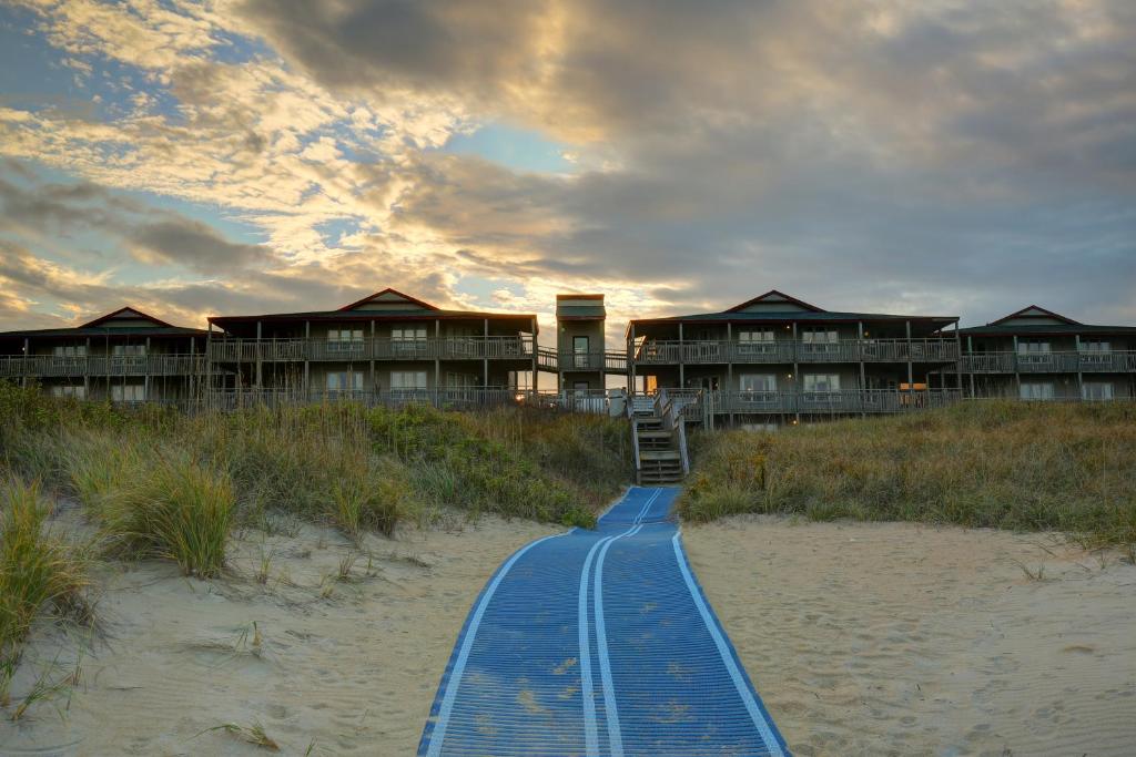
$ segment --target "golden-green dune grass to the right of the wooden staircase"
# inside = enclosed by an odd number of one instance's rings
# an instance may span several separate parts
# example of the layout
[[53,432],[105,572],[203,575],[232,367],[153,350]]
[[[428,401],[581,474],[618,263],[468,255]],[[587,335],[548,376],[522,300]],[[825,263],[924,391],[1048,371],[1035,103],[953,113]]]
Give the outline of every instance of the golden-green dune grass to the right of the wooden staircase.
[[942,411],[694,439],[679,501],[734,513],[1054,529],[1136,544],[1136,405],[966,403]]

